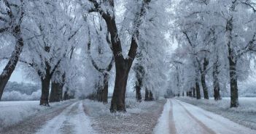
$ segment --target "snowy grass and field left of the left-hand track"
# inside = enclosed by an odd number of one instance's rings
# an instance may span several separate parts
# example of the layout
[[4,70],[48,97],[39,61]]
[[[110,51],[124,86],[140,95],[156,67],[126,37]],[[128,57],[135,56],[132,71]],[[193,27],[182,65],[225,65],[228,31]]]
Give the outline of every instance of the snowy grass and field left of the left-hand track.
[[0,101],[0,130],[63,103],[66,102],[52,103],[47,107],[39,106],[39,101]]

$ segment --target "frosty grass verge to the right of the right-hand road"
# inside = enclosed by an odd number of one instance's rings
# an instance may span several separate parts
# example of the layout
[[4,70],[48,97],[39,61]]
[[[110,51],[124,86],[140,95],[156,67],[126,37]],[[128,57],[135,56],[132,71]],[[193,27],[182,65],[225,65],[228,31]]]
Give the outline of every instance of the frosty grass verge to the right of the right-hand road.
[[229,98],[223,98],[220,101],[214,101],[214,99],[197,100],[190,97],[176,99],[199,106],[209,112],[220,114],[233,122],[256,130],[256,98],[239,98],[238,108],[230,108]]

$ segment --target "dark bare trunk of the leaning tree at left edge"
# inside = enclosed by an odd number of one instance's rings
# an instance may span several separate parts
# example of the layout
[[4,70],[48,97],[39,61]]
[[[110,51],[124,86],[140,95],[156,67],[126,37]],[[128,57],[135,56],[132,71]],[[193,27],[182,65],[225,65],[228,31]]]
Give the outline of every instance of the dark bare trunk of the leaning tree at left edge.
[[[20,28],[18,28],[18,33],[20,33]],[[23,46],[24,46],[23,38],[20,37],[20,38],[18,38],[18,41],[15,45],[15,50],[12,51],[12,56],[10,57],[9,62],[4,67],[3,72],[1,72],[1,75],[0,75],[0,101],[1,101],[1,96],[4,93],[4,88],[7,85],[8,80],[11,77],[12,72],[15,70],[15,67],[18,63]]]

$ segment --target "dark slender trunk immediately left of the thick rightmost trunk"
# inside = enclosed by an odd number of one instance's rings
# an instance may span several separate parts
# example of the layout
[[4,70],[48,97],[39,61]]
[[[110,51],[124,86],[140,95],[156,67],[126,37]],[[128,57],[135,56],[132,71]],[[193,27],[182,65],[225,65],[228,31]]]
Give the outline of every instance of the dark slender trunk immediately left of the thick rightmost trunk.
[[214,99],[215,100],[219,100],[220,98],[220,83],[219,83],[219,79],[218,79],[218,57],[216,62],[214,63],[213,66],[213,79],[214,79]]

